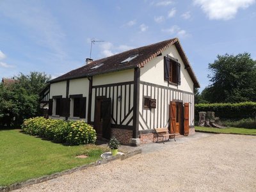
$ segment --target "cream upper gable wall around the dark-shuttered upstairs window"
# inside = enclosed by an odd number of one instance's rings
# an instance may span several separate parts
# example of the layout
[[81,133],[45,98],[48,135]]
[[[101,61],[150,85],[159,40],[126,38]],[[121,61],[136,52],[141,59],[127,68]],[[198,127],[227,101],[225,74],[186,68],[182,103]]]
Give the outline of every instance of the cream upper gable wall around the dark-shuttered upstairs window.
[[193,81],[189,76],[188,71],[185,69],[185,65],[181,60],[179,52],[177,51],[175,45],[172,45],[171,47],[166,49],[162,53],[162,56],[158,56],[152,59],[145,64],[145,67],[141,68],[140,81],[168,86],[168,82],[164,81],[164,56],[166,56],[167,54],[169,54],[173,58],[176,58],[179,61],[181,79],[180,85],[169,85],[169,87],[193,93]]

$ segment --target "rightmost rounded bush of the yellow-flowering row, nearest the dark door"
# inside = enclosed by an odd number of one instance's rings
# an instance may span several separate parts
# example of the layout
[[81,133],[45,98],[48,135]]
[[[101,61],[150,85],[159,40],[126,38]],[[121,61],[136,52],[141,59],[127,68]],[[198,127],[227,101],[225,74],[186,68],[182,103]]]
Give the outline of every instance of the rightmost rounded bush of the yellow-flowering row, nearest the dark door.
[[95,129],[83,121],[71,122],[67,136],[68,145],[95,143],[97,136]]

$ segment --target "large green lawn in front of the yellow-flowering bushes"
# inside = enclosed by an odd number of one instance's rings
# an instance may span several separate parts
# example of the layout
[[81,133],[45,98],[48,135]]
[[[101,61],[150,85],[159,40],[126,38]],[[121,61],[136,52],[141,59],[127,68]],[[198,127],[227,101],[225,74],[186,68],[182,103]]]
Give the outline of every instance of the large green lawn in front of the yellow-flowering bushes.
[[[20,130],[0,131],[0,186],[49,175],[100,159],[106,148],[64,146],[29,136]],[[86,154],[86,159],[75,158]]]

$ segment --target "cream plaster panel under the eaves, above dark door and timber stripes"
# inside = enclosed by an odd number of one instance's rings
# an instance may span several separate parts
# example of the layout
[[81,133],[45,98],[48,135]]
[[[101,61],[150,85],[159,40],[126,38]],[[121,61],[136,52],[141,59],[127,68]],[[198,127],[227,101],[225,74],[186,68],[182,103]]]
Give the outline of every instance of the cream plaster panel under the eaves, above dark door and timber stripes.
[[99,76],[93,76],[93,86],[111,83],[133,81],[134,69],[111,72]]

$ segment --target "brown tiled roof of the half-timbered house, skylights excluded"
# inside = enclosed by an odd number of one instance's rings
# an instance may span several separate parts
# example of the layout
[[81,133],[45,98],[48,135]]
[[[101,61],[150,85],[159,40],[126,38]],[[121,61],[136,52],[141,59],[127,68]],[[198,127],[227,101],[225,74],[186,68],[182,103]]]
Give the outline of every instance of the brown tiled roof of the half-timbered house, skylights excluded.
[[[144,47],[139,47],[136,49],[131,49],[129,51],[121,52],[119,54],[115,54],[113,56],[109,56],[108,58],[102,58],[100,60],[92,61],[92,63],[88,65],[84,65],[83,67],[77,68],[75,70],[72,70],[68,72],[67,74],[64,74],[60,77],[57,77],[56,79],[52,79],[49,81],[50,83],[63,81],[67,79],[76,79],[79,77],[90,77],[95,76],[98,74],[105,74],[109,72],[115,72],[118,70],[125,70],[129,68],[136,68],[136,67],[143,67],[148,61],[155,58],[158,54],[161,54],[164,50],[166,50],[171,45],[175,45],[177,50],[179,51],[179,54],[182,58],[182,61],[184,65],[186,66],[189,75],[191,76],[191,79],[193,80],[193,83],[195,84],[195,87],[199,87],[199,83],[196,79],[196,76],[191,68],[191,65],[189,64],[188,58],[186,57],[186,54],[184,53],[179,39],[178,38],[172,38],[170,40],[165,40],[163,42],[158,42],[156,44],[147,45]],[[121,63],[122,61],[126,60],[130,56],[134,56],[138,54],[136,58],[133,60],[127,62],[127,63]],[[100,63],[104,63],[104,65],[101,65],[100,67],[93,68]],[[93,69],[92,69],[93,68]]]

